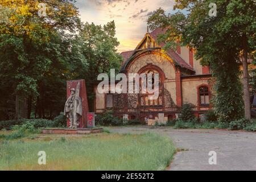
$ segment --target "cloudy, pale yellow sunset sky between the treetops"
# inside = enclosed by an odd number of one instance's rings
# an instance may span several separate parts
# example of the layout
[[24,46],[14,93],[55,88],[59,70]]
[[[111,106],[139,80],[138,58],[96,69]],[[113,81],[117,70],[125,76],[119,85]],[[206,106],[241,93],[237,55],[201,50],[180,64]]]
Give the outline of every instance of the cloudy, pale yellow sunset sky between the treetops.
[[77,0],[83,22],[115,21],[118,52],[133,50],[147,30],[147,18],[162,7],[172,13],[174,0]]

